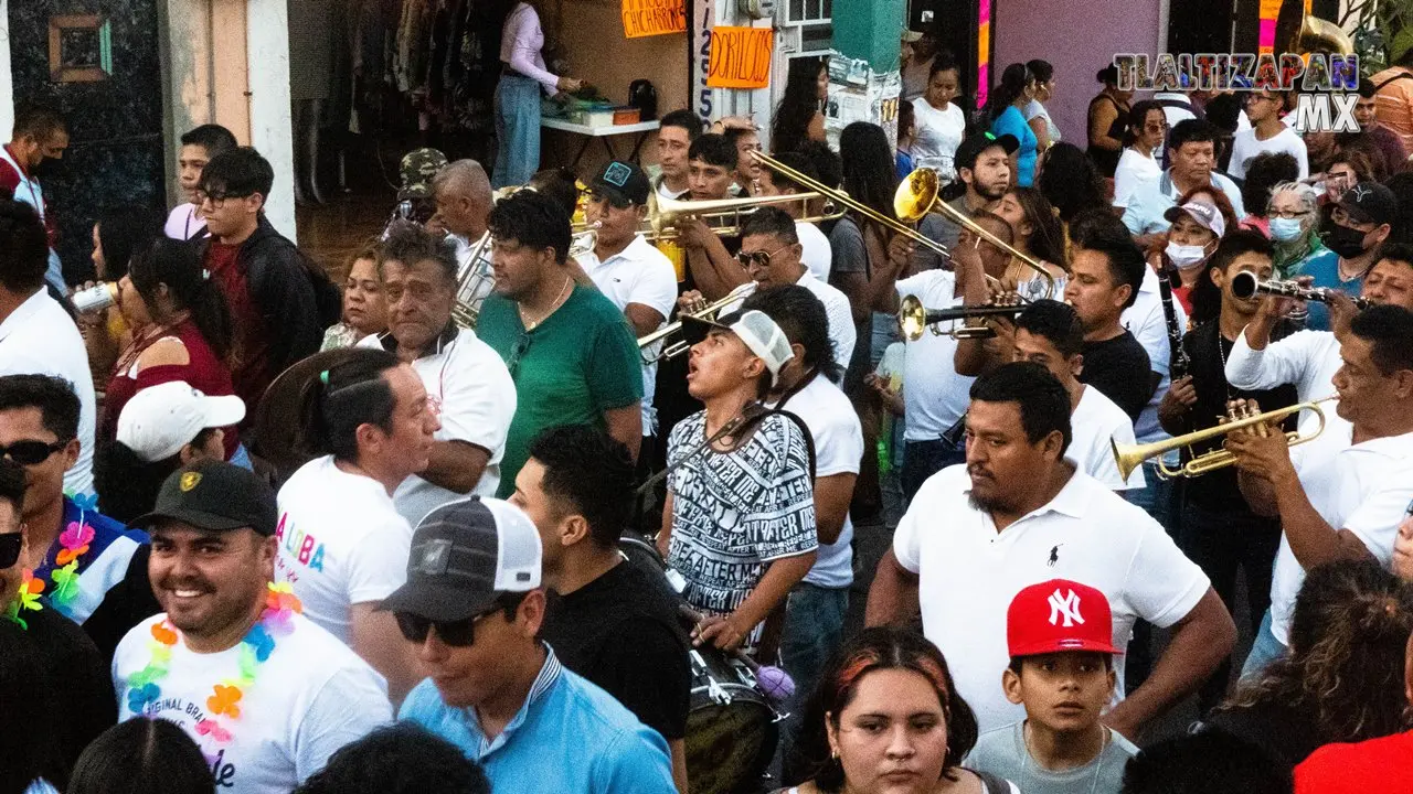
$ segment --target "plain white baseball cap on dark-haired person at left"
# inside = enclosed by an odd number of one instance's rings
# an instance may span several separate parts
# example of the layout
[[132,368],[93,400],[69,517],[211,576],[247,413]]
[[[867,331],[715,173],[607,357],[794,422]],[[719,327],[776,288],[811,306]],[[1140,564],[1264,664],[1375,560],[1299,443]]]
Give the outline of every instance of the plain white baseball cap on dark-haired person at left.
[[153,463],[181,452],[212,427],[229,427],[246,418],[240,397],[206,397],[187,381],[148,386],[123,405],[117,441],[140,459]]

